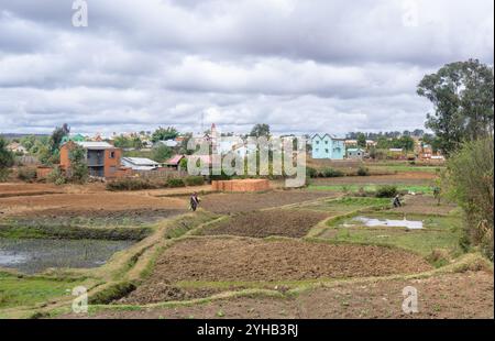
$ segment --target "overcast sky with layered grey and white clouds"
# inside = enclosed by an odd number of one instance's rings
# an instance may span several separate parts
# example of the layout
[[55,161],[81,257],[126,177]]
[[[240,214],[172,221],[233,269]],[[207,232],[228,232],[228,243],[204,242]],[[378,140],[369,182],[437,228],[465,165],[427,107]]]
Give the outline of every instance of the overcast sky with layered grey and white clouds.
[[425,74],[494,61],[493,0],[87,3],[0,0],[0,133],[413,130]]

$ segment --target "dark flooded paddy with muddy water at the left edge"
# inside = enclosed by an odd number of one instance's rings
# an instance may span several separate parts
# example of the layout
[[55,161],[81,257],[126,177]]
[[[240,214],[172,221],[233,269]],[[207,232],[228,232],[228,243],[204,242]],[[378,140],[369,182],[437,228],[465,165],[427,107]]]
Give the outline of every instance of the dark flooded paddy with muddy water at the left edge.
[[0,267],[33,274],[48,267],[97,267],[134,241],[0,238]]

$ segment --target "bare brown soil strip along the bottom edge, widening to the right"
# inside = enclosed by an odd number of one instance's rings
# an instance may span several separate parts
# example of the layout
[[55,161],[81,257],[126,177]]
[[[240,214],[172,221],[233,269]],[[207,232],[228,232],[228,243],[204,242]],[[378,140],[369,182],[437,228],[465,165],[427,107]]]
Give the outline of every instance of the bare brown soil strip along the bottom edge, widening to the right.
[[[418,312],[402,310],[403,288],[418,290]],[[89,318],[494,318],[493,273],[466,272],[426,279],[341,284],[296,298],[231,298],[204,305],[143,310],[101,311]],[[65,316],[67,318],[67,316]],[[68,318],[87,318],[68,316]]]

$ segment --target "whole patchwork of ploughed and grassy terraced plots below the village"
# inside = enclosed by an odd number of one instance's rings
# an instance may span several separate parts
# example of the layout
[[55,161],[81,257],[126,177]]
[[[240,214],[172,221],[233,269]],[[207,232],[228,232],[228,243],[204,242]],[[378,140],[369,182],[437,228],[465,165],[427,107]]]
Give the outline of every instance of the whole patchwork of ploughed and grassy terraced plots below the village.
[[[430,174],[409,183],[392,175],[389,182],[429,187]],[[427,290],[426,283],[448,294],[441,301],[426,294],[429,301],[417,317],[493,317],[493,304],[484,304],[493,302],[493,265],[460,248],[462,218],[454,206],[425,191],[392,208],[389,198],[372,195],[376,177],[344,179],[315,185],[321,188],[207,194],[196,212],[187,211],[183,193],[167,196],[164,189],[160,196],[40,194],[43,188],[36,185],[32,195],[24,195],[30,193],[24,188],[22,197],[4,196],[3,241],[22,241],[13,243],[20,248],[33,239],[50,241],[46,245],[75,243],[70,256],[77,260],[91,255],[95,243],[125,245],[106,249],[95,267],[86,262],[80,268],[53,263],[30,274],[15,266],[0,270],[0,317],[407,318],[399,304],[402,288]],[[383,176],[381,183],[386,183]],[[367,186],[371,193],[355,197],[341,186]],[[365,226],[356,220],[363,217],[417,221],[422,229]],[[88,239],[92,244],[79,248]],[[58,254],[64,257],[65,250]],[[475,292],[472,280],[477,280]],[[88,288],[89,315],[70,312],[67,293],[77,285]],[[483,304],[454,305],[455,290]]]

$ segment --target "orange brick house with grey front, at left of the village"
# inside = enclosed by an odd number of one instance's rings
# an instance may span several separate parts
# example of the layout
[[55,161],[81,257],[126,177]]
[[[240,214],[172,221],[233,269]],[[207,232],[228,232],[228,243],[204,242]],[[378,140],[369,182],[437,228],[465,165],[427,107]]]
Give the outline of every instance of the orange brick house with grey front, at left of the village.
[[89,175],[96,177],[112,178],[121,176],[122,151],[107,142],[74,142],[69,141],[61,147],[61,167],[70,167],[69,151],[79,145],[87,151],[86,162]]

